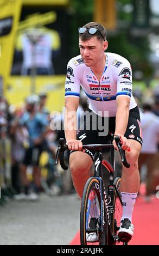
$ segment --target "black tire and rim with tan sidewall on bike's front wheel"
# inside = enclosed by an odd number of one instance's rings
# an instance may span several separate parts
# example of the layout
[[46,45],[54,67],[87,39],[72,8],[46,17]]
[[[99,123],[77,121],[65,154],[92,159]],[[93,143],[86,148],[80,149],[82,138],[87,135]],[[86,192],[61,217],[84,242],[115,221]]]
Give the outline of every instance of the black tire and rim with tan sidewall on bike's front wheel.
[[[88,242],[87,241],[88,220],[89,220],[88,216],[90,216],[88,206],[90,203],[90,198],[92,196],[92,193],[96,194],[96,201],[98,200],[98,202],[96,202],[95,205],[99,204],[99,208],[98,208],[99,216],[98,216],[98,223],[97,223],[97,228],[96,228],[96,233],[98,235],[98,242],[92,242],[92,241]],[[93,200],[91,200],[91,204],[93,204]],[[101,212],[101,205],[102,205],[102,209],[103,209],[102,212]],[[101,217],[101,214],[102,214],[102,217]],[[101,218],[104,218],[103,223],[101,223]],[[101,202],[100,181],[96,177],[91,177],[86,182],[83,196],[82,196],[82,201],[81,201],[81,211],[80,211],[80,241],[81,241],[81,245],[107,245],[108,244],[107,235],[108,235],[107,215],[106,215],[105,202]]]

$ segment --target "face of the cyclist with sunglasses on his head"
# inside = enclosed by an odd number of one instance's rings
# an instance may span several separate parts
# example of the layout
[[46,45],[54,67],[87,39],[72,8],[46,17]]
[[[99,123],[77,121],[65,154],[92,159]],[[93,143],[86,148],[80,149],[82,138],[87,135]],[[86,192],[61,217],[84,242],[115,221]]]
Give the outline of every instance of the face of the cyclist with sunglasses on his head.
[[79,38],[79,48],[81,57],[84,60],[86,66],[94,66],[103,57],[104,51],[107,49],[107,41],[98,40],[96,36],[82,41]]

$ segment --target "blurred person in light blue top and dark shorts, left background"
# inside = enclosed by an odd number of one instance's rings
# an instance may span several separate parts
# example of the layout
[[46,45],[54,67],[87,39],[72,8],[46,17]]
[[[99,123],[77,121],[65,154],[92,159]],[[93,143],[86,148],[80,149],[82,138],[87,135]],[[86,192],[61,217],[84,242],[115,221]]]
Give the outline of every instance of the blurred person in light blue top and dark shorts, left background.
[[[27,196],[29,199],[37,200],[39,199],[39,192],[41,190],[39,158],[42,152],[44,136],[47,131],[48,120],[47,118],[44,118],[43,114],[37,111],[38,101],[39,97],[36,95],[27,97],[27,110],[20,119],[20,125],[22,127],[27,127],[29,133],[29,144],[28,148],[26,149],[23,164],[21,166],[21,178],[25,194],[20,194],[20,199]],[[27,179],[27,167],[29,165],[33,166],[33,181],[35,191],[35,193],[31,193],[30,195],[29,181]]]

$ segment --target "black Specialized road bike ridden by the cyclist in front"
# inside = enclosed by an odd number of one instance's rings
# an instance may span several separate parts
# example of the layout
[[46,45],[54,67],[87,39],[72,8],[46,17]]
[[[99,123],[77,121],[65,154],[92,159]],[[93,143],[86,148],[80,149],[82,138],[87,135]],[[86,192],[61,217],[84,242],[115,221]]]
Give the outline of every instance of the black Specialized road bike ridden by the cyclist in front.
[[[129,242],[128,237],[120,239],[118,236],[123,206],[119,192],[120,177],[115,175],[115,149],[112,141],[113,135],[110,136],[110,144],[82,145],[83,150],[95,149],[96,153],[94,155],[94,175],[87,180],[81,200],[81,245],[128,245]],[[116,136],[115,141],[122,163],[129,168],[130,164],[126,161],[120,137]],[[110,162],[103,156],[104,148],[110,149]],[[65,140],[61,138],[55,163],[57,164],[60,159],[61,167],[65,170],[68,167],[63,160],[63,155],[67,149]],[[109,177],[107,182],[105,182],[105,176]]]

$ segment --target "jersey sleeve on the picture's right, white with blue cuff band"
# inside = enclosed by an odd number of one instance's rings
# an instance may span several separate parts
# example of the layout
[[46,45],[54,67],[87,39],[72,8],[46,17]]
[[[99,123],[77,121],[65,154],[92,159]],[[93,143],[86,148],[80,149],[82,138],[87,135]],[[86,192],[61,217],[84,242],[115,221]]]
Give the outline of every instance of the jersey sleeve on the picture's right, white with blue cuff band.
[[119,69],[117,77],[117,97],[125,95],[131,97],[132,94],[132,71],[128,61],[123,63]]

